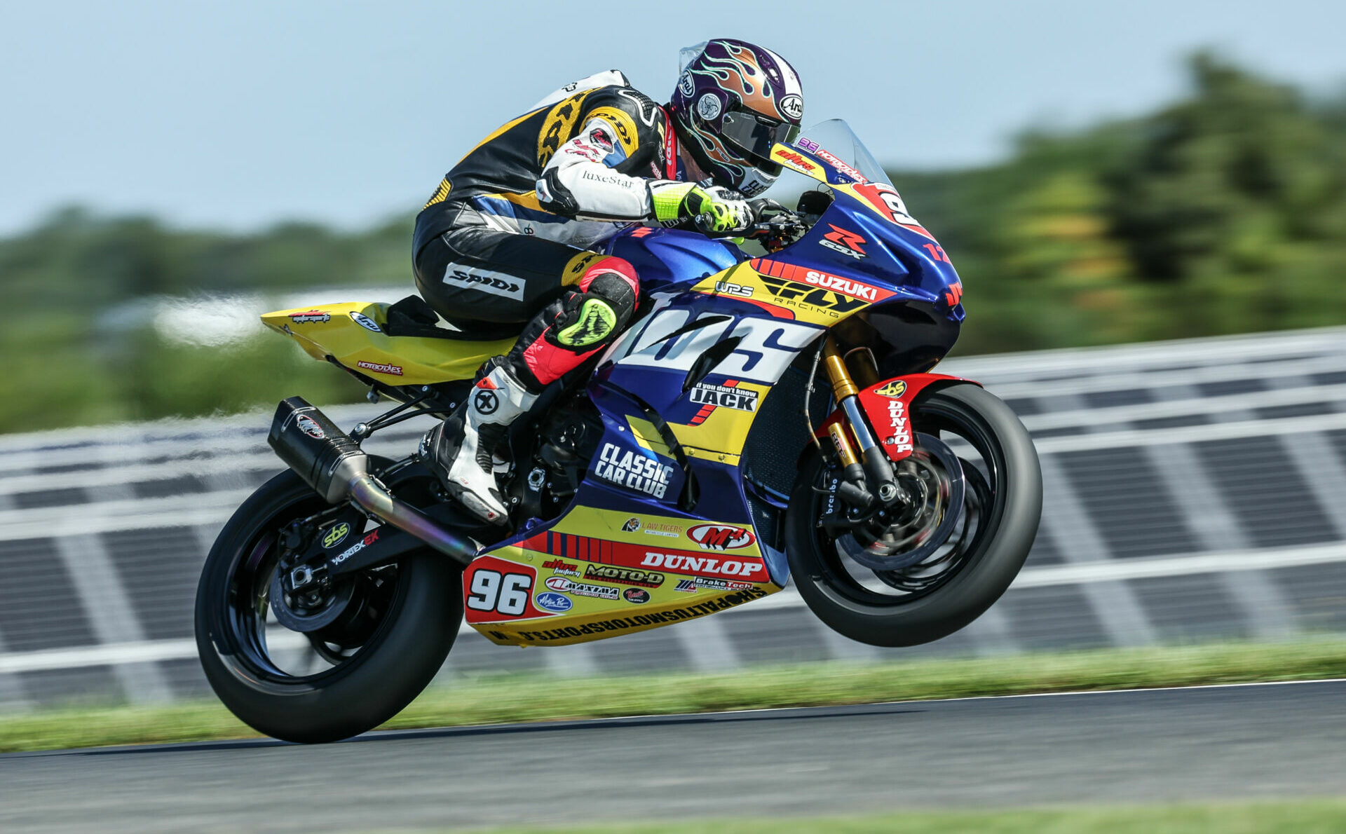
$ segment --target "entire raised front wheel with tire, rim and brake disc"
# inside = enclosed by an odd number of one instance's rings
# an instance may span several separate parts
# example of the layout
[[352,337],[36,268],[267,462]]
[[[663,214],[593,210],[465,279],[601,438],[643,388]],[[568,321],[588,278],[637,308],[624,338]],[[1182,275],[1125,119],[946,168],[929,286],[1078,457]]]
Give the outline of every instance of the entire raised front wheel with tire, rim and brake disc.
[[[937,389],[913,404],[911,422],[917,452],[899,480],[925,484],[931,499],[918,514],[888,530],[820,523],[835,514],[836,479],[817,448],[786,514],[800,596],[835,631],[871,646],[929,643],[977,619],[1019,573],[1042,517],[1036,451],[999,398],[969,383]],[[894,546],[876,558],[876,542]]]

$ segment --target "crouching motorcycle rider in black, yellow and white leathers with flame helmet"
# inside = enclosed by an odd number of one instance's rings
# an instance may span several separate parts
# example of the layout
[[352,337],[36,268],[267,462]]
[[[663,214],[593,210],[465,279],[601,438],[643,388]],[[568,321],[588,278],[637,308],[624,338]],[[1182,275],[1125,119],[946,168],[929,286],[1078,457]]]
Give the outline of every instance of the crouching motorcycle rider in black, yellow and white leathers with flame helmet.
[[483,521],[507,522],[491,459],[510,422],[635,311],[634,268],[591,249],[633,223],[734,235],[782,211],[744,198],[779,175],[771,145],[798,133],[798,75],[743,40],[699,48],[664,106],[616,70],[552,93],[454,165],[416,218],[416,287],[431,307],[468,334],[522,331],[421,443]]

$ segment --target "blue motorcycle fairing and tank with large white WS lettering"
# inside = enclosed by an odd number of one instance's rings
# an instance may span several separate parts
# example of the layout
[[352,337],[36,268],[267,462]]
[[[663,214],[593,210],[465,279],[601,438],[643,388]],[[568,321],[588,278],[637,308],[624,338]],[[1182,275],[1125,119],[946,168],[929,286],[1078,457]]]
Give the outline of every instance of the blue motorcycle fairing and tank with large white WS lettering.
[[[847,239],[855,242],[851,254],[841,250],[845,248],[839,249],[837,241]],[[732,295],[690,292],[705,278],[747,260],[725,241],[635,227],[615,237],[607,252],[627,260],[641,276],[642,315],[606,354],[588,393],[603,420],[600,449],[643,459],[651,476],[634,488],[629,483],[610,483],[600,475],[604,467],[600,452],[591,461],[572,506],[755,529],[736,455],[716,459],[713,451],[697,451],[678,456],[672,448],[677,440],[670,430],[665,428],[662,437],[672,444],[661,443],[649,437],[649,426],[690,422],[701,406],[688,397],[689,379],[774,385],[800,351],[816,344],[826,328],[775,317],[769,309]],[[902,305],[913,305],[946,321],[956,338],[957,323],[964,317],[958,276],[938,243],[874,214],[872,207],[849,196],[839,196],[808,234],[770,260],[891,292],[891,297],[870,307],[876,320],[884,316],[884,309],[900,313]],[[707,362],[708,355],[713,361]],[[634,425],[646,426],[643,440],[635,437]],[[521,535],[552,523],[534,522]],[[760,530],[758,543],[771,580],[783,585],[789,578],[785,554],[763,541]]]

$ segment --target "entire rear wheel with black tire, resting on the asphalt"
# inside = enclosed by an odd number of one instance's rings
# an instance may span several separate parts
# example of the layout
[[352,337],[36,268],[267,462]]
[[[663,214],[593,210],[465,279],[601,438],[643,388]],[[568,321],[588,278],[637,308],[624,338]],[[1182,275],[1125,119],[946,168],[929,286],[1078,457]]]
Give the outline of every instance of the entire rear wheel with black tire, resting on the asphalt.
[[[417,484],[389,487],[402,495]],[[463,619],[459,570],[428,549],[277,600],[285,529],[323,514],[358,535],[362,519],[341,513],[293,472],[277,475],[225,525],[197,589],[211,687],[245,724],[285,741],[335,741],[392,718],[443,666]]]

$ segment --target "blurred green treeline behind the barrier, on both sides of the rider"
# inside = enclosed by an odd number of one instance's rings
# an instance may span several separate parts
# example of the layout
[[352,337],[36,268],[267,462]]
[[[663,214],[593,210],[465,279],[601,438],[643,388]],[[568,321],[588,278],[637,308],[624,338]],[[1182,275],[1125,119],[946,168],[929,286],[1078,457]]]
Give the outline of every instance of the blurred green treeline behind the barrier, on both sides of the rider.
[[[958,352],[1341,324],[1346,90],[1311,101],[1213,54],[1151,116],[1027,130],[995,165],[894,172],[964,278]],[[284,223],[179,230],[65,208],[0,239],[0,328],[17,397],[0,430],[202,414],[353,381],[260,334],[191,347],[152,330],[156,300],[404,287],[412,218],[358,233]],[[388,299],[394,300],[394,299]],[[241,303],[241,301],[240,301]]]

